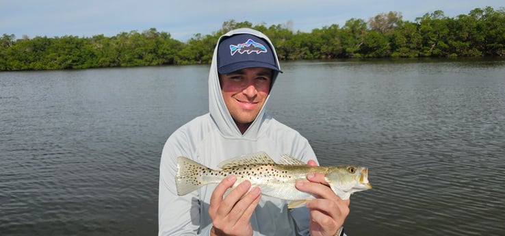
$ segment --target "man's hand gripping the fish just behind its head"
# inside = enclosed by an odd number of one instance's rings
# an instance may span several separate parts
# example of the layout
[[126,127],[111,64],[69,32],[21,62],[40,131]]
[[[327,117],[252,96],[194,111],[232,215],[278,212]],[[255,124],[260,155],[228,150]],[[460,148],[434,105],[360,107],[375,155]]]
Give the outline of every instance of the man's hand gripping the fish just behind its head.
[[[309,166],[317,166],[315,161],[309,161]],[[307,202],[310,220],[311,236],[333,236],[344,224],[349,215],[350,200],[341,200],[324,179],[324,174],[307,174],[308,181],[298,181],[296,188],[311,193],[318,198]]]

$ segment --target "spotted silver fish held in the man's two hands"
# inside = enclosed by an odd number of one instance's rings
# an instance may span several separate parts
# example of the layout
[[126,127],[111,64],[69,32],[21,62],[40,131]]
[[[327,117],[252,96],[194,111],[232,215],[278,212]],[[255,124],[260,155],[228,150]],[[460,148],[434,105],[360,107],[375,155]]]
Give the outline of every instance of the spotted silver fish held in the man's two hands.
[[232,189],[242,181],[250,181],[252,187],[260,187],[261,194],[289,201],[287,207],[291,209],[316,198],[295,187],[296,181],[307,180],[309,173],[324,174],[329,187],[343,200],[350,198],[354,192],[372,188],[368,181],[368,168],[309,166],[290,155],[281,155],[279,163],[276,163],[264,152],[251,153],[227,159],[218,167],[221,170],[213,170],[187,157],[177,157],[177,194],[184,196],[209,183],[220,183],[233,174],[237,176],[237,181]]

